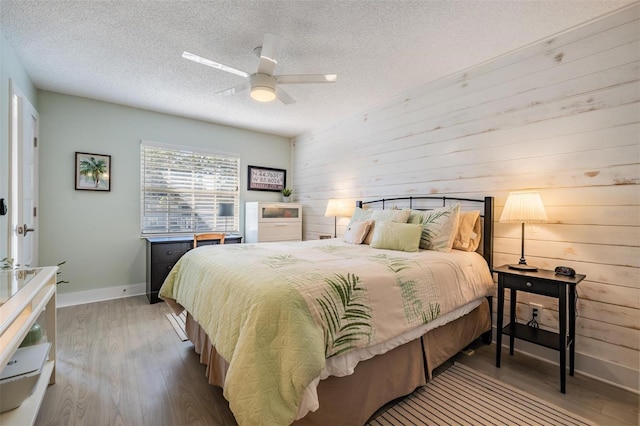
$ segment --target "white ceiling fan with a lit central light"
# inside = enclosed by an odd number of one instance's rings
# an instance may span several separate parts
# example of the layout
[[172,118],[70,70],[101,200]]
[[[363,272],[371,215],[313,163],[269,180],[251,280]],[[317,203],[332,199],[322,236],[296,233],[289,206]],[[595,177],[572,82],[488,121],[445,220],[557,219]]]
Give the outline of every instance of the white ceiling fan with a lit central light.
[[218,93],[232,95],[250,89],[251,97],[259,102],[271,102],[278,98],[286,105],[292,104],[295,103],[295,100],[280,88],[281,84],[335,83],[338,79],[336,74],[273,75],[276,65],[278,64],[277,57],[280,53],[281,46],[282,37],[275,34],[265,34],[262,46],[253,49],[260,58],[258,71],[253,74],[189,52],[183,52],[182,57],[199,64],[248,78],[244,83]]

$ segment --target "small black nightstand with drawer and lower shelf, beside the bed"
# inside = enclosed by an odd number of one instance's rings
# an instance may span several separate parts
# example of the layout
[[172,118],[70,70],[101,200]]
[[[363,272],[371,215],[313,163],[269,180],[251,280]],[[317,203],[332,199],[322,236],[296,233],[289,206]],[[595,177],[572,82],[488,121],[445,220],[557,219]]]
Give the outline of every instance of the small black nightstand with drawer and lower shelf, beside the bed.
[[[500,367],[502,334],[509,336],[509,354],[513,355],[515,338],[555,349],[560,352],[560,392],[566,393],[567,347],[569,348],[569,375],[573,376],[576,336],[576,285],[585,275],[575,277],[556,275],[553,271],[540,269],[537,272],[510,269],[507,265],[494,268],[498,274],[498,324],[496,337],[496,367]],[[502,326],[504,316],[504,290],[510,290],[509,324]],[[558,299],[559,332],[553,333],[539,328],[516,323],[517,292],[540,294]],[[568,304],[568,312],[567,312]],[[569,333],[567,337],[567,313]]]

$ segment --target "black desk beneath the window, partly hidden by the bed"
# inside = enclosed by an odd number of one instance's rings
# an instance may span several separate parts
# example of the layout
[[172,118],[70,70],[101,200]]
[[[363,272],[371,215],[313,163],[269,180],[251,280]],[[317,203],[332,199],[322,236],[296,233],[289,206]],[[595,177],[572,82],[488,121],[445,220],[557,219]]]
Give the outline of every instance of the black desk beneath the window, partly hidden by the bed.
[[[242,236],[229,234],[225,244],[240,244]],[[203,241],[200,245],[218,244],[218,241]],[[147,238],[147,299],[149,303],[160,301],[158,292],[169,271],[183,254],[193,248],[193,236],[148,237]]]

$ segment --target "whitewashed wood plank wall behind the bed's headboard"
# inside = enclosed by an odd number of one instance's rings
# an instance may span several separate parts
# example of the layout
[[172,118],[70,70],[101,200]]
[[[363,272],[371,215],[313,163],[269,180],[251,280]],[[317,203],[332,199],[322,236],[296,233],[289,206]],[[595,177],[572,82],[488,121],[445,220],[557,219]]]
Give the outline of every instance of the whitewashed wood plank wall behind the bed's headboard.
[[[333,235],[329,198],[493,195],[499,218],[509,191],[538,190],[549,223],[527,226],[527,260],[587,275],[580,359],[613,367],[587,372],[637,390],[639,12],[633,5],[296,138],[304,238]],[[347,221],[339,219],[339,235]],[[495,251],[496,265],[517,261],[519,225],[496,223]],[[557,329],[554,299],[521,299],[520,318],[535,301],[543,326]]]

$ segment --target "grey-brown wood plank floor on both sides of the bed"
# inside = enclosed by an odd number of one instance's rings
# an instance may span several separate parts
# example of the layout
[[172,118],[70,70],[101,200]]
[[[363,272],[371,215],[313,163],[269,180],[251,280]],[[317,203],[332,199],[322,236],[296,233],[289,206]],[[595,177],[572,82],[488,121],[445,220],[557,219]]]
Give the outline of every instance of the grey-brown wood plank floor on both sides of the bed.
[[[144,296],[58,309],[57,382],[36,425],[236,425],[168,312]],[[638,395],[581,375],[563,395],[555,365],[506,355],[497,369],[495,346],[481,344],[456,361],[600,425],[638,424]]]

